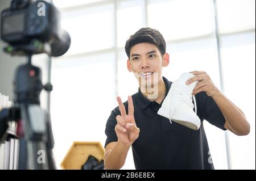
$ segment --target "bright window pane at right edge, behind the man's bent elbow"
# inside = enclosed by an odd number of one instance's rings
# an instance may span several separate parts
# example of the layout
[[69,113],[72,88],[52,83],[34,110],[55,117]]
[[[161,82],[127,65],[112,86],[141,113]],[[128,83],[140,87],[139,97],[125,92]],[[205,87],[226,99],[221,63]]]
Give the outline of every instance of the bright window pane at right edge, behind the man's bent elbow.
[[247,136],[229,133],[230,169],[255,169],[255,43],[221,52],[225,94],[245,113],[251,128]]

